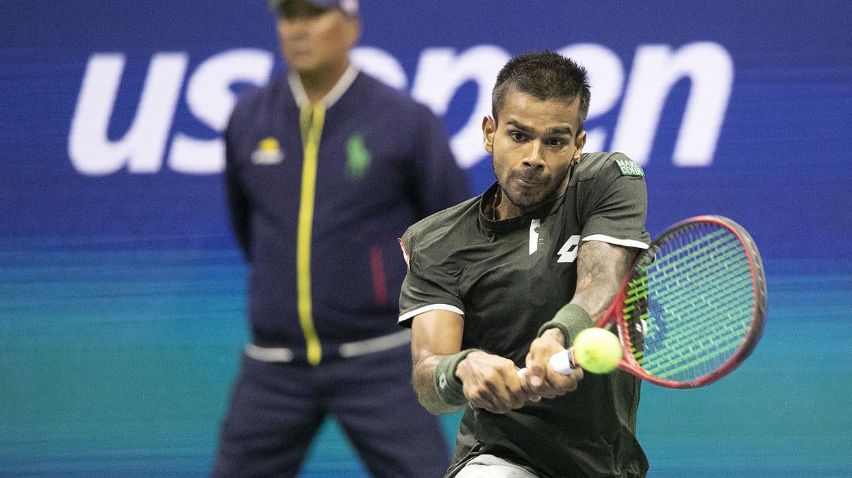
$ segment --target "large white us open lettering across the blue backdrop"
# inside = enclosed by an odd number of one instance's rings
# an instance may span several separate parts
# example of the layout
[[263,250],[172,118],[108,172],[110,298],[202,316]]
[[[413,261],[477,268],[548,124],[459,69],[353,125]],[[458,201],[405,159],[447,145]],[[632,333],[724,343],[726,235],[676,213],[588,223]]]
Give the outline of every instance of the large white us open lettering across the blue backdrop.
[[[609,150],[647,164],[665,101],[674,85],[687,78],[689,95],[672,162],[692,167],[711,164],[734,78],[733,61],[721,45],[698,42],[676,50],[665,44],[641,45],[626,82],[622,61],[600,44],[576,43],[559,52],[579,61],[589,72],[592,101],[587,120],[612,113],[621,101],[616,127],[588,130],[585,151],[607,149],[611,135]],[[383,49],[359,47],[353,50],[352,60],[396,89],[408,85],[400,62]],[[446,115],[464,84],[476,86],[474,106],[463,113],[466,121],[450,141],[463,168],[485,157],[481,119],[491,114],[491,89],[508,60],[509,54],[494,45],[478,45],[461,53],[428,48],[420,55],[411,94],[438,116]],[[273,61],[273,53],[261,49],[232,49],[210,57],[188,79],[189,111],[210,130],[221,133],[237,101],[231,85],[265,84]],[[123,168],[131,173],[160,170],[187,62],[186,53],[153,55],[130,128],[120,139],[110,140],[107,132],[125,58],[121,54],[91,55],[69,133],[68,153],[74,168],[95,176]],[[171,170],[186,174],[220,172],[224,166],[222,140],[175,132],[168,164]]]

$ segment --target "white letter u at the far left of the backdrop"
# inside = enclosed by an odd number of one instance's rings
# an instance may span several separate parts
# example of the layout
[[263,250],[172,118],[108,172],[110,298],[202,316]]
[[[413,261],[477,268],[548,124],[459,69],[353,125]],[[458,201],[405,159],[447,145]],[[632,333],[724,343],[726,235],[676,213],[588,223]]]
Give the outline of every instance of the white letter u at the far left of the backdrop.
[[74,168],[93,176],[112,174],[125,164],[132,173],[157,172],[186,69],[184,53],[154,55],[130,129],[121,140],[110,141],[107,128],[124,72],[124,55],[89,57],[68,138]]

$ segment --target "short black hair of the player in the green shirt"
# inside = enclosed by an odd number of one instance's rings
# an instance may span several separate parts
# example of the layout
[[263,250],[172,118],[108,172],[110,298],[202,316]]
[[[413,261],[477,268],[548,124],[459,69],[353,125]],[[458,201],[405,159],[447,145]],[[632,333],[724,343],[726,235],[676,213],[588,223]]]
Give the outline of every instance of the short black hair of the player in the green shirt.
[[495,123],[506,95],[513,89],[540,101],[553,98],[573,101],[579,97],[577,134],[583,131],[591,92],[589,74],[576,61],[547,50],[531,51],[509,60],[498,73],[491,93],[491,114]]

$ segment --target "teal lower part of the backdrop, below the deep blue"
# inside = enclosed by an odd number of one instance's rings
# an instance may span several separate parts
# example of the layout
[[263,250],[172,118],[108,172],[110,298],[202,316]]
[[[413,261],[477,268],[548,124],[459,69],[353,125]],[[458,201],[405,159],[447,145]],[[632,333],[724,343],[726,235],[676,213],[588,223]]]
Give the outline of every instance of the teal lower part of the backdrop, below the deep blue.
[[[648,476],[852,476],[850,265],[767,261],[751,358],[704,389],[643,386]],[[0,476],[207,475],[244,289],[237,251],[4,247]],[[329,419],[301,476],[367,475]]]

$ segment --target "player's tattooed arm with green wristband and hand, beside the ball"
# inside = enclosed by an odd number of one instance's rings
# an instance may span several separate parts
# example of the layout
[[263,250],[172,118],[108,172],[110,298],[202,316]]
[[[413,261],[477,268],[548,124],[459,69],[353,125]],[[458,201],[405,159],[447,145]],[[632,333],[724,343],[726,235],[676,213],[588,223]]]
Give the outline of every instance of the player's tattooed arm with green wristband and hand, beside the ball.
[[574,297],[560,310],[555,320],[545,324],[544,332],[533,341],[527,354],[526,378],[534,393],[552,398],[577,388],[582,369],[568,376],[561,375],[548,365],[548,360],[565,348],[579,331],[594,326],[602,317],[618,293],[635,256],[635,249],[606,242],[592,240],[580,245]]

